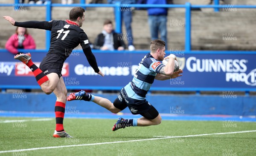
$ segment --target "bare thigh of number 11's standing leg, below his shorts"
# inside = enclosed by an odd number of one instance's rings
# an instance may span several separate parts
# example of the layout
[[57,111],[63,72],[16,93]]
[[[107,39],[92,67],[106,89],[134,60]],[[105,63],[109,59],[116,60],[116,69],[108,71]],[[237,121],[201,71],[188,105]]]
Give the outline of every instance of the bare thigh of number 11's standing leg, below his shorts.
[[54,89],[53,93],[59,99],[65,100],[67,99],[67,88],[64,82],[64,79],[60,77],[56,88]]

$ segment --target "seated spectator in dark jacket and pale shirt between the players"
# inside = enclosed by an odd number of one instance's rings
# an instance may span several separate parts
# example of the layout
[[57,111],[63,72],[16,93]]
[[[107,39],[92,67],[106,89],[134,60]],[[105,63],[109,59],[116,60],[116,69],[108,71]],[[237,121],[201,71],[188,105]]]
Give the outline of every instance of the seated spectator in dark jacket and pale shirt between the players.
[[94,49],[100,50],[124,50],[125,43],[122,37],[113,31],[111,20],[105,20],[103,31],[99,34],[94,42]]

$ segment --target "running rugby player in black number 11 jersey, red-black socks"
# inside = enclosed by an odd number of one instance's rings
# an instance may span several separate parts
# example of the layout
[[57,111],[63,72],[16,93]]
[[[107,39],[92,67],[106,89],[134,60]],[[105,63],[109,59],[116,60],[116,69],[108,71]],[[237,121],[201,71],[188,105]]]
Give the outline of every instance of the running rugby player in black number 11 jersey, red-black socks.
[[[31,54],[18,54],[14,58],[25,63],[35,75],[35,79],[45,94],[52,92],[57,97],[55,103],[56,128],[53,137],[72,137],[64,131],[63,119],[67,99],[67,88],[61,75],[64,61],[74,48],[81,45],[84,54],[96,73],[104,77],[99,70],[87,35],[80,27],[84,22],[84,9],[74,7],[70,10],[69,20],[26,21],[16,22],[12,17],[4,16],[13,26],[23,28],[38,28],[51,31],[49,51],[42,60],[39,68],[32,62]],[[68,52],[67,52],[68,51]]]

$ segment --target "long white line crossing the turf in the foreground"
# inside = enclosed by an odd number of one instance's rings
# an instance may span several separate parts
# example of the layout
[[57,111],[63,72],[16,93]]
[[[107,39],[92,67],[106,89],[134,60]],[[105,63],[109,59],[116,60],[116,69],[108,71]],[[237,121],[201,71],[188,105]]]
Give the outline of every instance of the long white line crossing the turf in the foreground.
[[140,142],[140,141],[147,141],[147,140],[158,140],[158,139],[169,139],[169,138],[186,138],[186,137],[193,137],[193,136],[209,136],[209,135],[222,135],[222,134],[235,134],[235,133],[249,133],[249,132],[256,132],[256,130],[246,130],[246,131],[227,132],[227,133],[197,134],[197,135],[189,135],[189,136],[167,136],[167,137],[164,137],[164,138],[151,138],[151,139],[128,140],[128,141],[117,141],[117,142],[100,142],[100,143],[81,144],[81,145],[37,147],[37,148],[28,148],[28,149],[20,149],[20,150],[2,150],[2,151],[0,151],[0,153],[23,152],[23,151],[29,151],[29,150],[43,150],[43,149],[62,148],[62,147],[103,145],[103,144],[113,144],[113,143],[122,143],[122,142]]

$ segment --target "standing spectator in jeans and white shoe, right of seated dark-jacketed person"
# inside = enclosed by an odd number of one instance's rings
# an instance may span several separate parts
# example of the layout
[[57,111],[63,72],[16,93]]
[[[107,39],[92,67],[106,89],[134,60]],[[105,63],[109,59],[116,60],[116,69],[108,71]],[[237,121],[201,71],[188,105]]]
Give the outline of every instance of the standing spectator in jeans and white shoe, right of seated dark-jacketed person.
[[[133,45],[133,36],[132,36],[132,30],[131,30],[131,22],[132,22],[132,9],[130,7],[127,7],[129,4],[135,4],[136,0],[108,0],[108,3],[110,4],[116,4],[116,2],[121,3],[120,11],[121,11],[121,21],[124,21],[125,28],[126,28],[126,34],[125,36],[128,40],[128,50],[134,51],[135,47]],[[122,22],[121,22],[121,28],[122,28]]]

